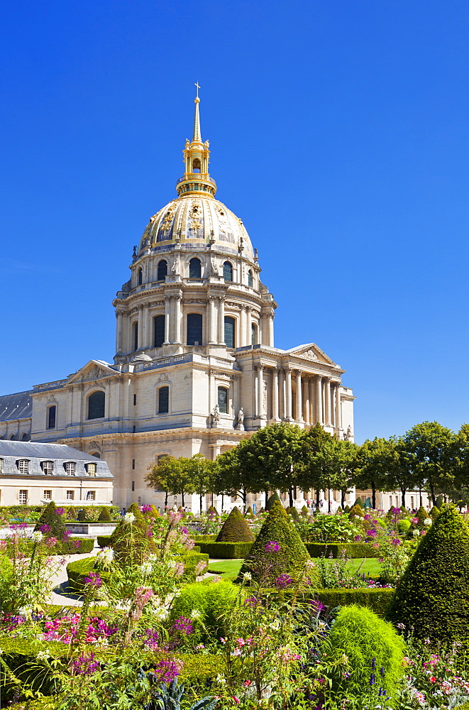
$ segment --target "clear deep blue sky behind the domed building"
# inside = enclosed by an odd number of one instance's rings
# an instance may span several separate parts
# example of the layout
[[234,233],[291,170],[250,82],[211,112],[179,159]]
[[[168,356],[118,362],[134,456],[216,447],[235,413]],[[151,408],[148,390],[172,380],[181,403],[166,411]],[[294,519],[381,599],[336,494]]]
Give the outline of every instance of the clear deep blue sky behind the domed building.
[[469,420],[467,1],[18,0],[0,26],[0,393],[112,361],[198,81],[275,344],[347,370],[359,442]]

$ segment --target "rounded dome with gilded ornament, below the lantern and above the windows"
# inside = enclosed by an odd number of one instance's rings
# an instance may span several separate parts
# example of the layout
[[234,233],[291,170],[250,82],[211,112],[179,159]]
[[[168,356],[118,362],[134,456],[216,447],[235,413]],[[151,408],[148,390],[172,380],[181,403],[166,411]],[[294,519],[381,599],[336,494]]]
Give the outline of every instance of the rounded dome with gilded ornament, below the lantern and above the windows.
[[236,214],[213,197],[177,197],[150,218],[138,254],[172,244],[215,244],[229,251],[243,249],[253,259],[248,232]]

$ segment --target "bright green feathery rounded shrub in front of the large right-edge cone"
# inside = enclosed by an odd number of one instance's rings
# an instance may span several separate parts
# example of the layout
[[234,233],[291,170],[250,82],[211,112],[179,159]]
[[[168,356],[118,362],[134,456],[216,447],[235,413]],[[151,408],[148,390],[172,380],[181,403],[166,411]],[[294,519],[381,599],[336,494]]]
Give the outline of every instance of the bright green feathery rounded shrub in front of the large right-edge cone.
[[[376,683],[392,696],[404,672],[404,650],[404,640],[390,623],[370,609],[343,606],[323,645],[324,660],[337,664],[333,672],[333,694],[346,691],[360,697],[364,688]],[[348,657],[349,678],[344,678],[343,655]]]

